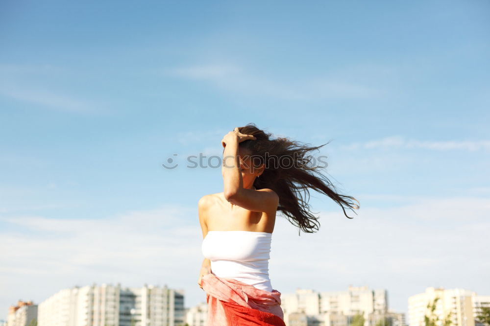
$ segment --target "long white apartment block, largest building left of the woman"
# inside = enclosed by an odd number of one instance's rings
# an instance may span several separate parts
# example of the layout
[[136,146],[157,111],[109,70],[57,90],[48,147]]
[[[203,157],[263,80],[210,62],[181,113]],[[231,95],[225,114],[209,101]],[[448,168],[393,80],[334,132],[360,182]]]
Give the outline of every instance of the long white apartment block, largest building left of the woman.
[[181,326],[184,291],[102,284],[63,289],[39,304],[38,326]]

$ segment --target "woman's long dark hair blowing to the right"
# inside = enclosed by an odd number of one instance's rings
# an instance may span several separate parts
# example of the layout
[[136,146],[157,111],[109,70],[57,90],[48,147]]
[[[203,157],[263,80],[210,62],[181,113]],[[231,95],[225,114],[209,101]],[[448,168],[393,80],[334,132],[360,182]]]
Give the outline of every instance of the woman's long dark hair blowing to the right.
[[[281,211],[294,226],[299,227],[299,233],[301,230],[305,233],[315,233],[314,230],[319,230],[319,217],[310,212],[308,204],[310,188],[333,199],[342,207],[347,218],[353,218],[346,214],[345,208],[358,210],[359,201],[354,197],[338,193],[330,180],[319,171],[322,166],[312,166],[312,156],[307,155],[328,142],[309,147],[305,143],[289,138],[271,139],[270,133],[257,128],[254,123],[248,123],[238,129],[242,134],[253,135],[256,138],[240,142],[239,148],[251,153],[250,162],[255,167],[265,164],[264,172],[260,177],[255,178],[255,188],[270,188],[277,193],[279,196],[277,210]],[[308,196],[307,200],[301,192],[305,197]],[[355,200],[357,205],[352,200]]]

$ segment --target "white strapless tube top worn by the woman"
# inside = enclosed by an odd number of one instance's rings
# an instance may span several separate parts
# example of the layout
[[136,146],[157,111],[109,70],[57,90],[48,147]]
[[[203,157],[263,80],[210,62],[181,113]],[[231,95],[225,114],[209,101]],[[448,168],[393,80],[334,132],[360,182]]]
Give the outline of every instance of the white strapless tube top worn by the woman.
[[269,258],[272,233],[252,231],[208,231],[202,254],[211,261],[211,272],[258,289],[272,291]]

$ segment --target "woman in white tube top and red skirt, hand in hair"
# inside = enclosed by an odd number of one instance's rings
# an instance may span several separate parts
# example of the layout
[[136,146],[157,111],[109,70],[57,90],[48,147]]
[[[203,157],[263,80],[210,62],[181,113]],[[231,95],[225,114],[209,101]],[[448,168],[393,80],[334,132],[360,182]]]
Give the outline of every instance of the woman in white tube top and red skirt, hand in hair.
[[270,244],[278,210],[299,231],[318,230],[318,217],[300,191],[326,194],[344,214],[344,206],[359,209],[354,197],[335,191],[319,166],[309,165],[306,154],[324,145],[307,147],[270,136],[253,123],[226,134],[221,140],[223,192],[198,202],[205,258],[197,283],[206,292],[208,326],[285,325],[281,293],[269,279]]

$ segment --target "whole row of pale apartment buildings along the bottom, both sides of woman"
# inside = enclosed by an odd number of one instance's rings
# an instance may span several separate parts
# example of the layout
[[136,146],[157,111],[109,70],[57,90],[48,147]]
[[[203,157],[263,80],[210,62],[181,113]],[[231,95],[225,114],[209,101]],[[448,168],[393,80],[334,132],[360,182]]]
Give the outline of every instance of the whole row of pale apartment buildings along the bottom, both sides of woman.
[[[111,325],[128,325],[131,321],[150,325],[203,325],[207,314],[206,301],[193,306],[185,306],[184,302],[185,291],[167,285],[127,287],[121,283],[94,283],[61,289],[41,303],[19,300],[17,305],[9,308],[7,320],[9,326],[30,326],[33,319],[39,326],[64,325],[63,321],[85,325],[87,320],[94,323],[105,320]],[[435,314],[441,322],[447,319],[451,326],[482,326],[473,317],[477,318],[482,307],[490,308],[490,295],[462,288],[428,287],[423,293],[408,299],[408,315],[390,308],[387,289],[370,288],[368,285],[349,285],[342,291],[297,288],[294,293],[281,296],[286,325],[299,325],[297,323],[305,321],[305,316],[308,316],[308,325],[311,321],[314,325],[320,322],[328,323],[320,324],[324,326],[348,326],[356,315],[361,314],[365,326],[378,326],[381,321],[389,326],[424,326],[424,316],[431,315],[429,305],[432,303],[436,304]],[[147,315],[142,314],[143,311]],[[0,322],[4,320],[0,319]]]

